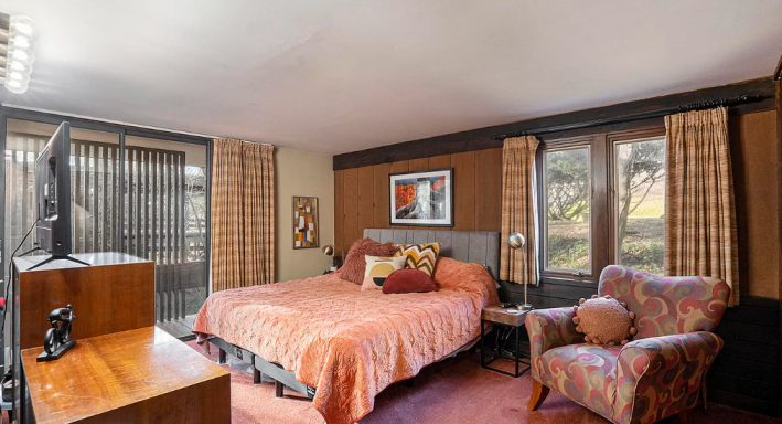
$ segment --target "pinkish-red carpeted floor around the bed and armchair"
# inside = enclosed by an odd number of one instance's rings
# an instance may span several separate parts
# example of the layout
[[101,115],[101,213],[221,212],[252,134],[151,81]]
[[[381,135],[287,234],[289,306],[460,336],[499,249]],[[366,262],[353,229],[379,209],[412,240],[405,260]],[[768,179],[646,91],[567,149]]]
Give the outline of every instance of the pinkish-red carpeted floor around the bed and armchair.
[[[217,350],[204,352],[195,341],[193,349],[217,359]],[[231,372],[231,402],[233,424],[302,423],[322,424],[323,418],[311,402],[293,391],[283,399],[275,398],[275,385],[264,381],[253,384],[253,375],[224,365]],[[521,423],[607,423],[606,420],[551,393],[536,412],[527,412],[532,381],[526,373],[518,379],[484,370],[478,354],[461,353],[425,368],[415,379],[414,388],[393,384],[375,399],[375,410],[361,424],[521,424]],[[754,424],[780,423],[781,420],[757,415],[727,406],[711,404],[709,415],[697,410],[696,423]],[[676,417],[664,421],[677,423]]]

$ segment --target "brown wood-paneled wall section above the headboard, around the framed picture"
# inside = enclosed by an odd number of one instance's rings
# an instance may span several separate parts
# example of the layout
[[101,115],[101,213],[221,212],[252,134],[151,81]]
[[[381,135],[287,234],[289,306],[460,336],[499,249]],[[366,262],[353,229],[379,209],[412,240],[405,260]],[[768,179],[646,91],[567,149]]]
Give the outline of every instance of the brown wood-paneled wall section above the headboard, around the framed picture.
[[452,230],[500,231],[502,149],[494,148],[334,171],[335,245],[347,251],[364,229],[390,226],[389,173],[437,168],[453,168]]

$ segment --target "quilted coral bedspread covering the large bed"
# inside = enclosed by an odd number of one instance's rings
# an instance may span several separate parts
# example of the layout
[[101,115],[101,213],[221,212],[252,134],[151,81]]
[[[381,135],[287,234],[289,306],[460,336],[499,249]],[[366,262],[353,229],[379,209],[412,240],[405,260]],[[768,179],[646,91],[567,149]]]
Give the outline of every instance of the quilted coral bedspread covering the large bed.
[[276,362],[318,389],[329,424],[354,423],[389,384],[474,339],[481,309],[497,303],[481,265],[442,257],[432,293],[362,292],[335,275],[213,294],[193,331]]

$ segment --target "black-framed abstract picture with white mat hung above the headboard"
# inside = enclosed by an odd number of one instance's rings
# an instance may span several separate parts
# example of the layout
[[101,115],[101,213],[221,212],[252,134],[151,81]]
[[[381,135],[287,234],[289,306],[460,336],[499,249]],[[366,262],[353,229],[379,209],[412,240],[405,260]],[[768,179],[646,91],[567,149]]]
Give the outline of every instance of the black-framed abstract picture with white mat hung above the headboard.
[[388,176],[390,224],[453,226],[453,168]]

